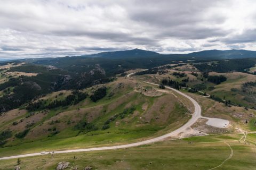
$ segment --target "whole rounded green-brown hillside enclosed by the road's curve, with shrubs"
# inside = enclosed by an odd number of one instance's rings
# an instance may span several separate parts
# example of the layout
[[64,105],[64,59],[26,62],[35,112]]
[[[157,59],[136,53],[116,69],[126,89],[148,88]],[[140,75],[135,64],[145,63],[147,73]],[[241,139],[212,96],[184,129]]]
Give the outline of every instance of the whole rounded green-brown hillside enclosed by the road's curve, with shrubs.
[[[92,95],[102,87],[106,94],[94,102]],[[74,91],[53,92],[1,114],[0,131],[11,133],[2,141],[1,155],[132,142],[175,129],[190,117],[182,98],[125,78],[80,92],[88,96],[68,105],[56,103],[70,100]]]

